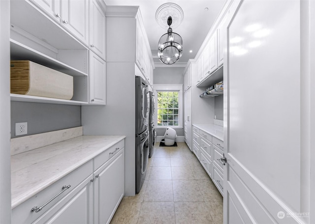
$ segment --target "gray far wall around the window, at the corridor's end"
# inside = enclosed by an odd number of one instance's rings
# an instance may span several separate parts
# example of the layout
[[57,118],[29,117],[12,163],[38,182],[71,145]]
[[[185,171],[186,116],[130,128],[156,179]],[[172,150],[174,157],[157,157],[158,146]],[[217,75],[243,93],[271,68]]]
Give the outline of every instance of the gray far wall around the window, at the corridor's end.
[[[184,84],[184,67],[157,67],[154,69],[154,84]],[[184,91],[183,91],[184,94]],[[184,96],[182,96],[184,99]],[[185,104],[184,100],[183,103]],[[184,110],[183,104],[183,110]],[[184,115],[184,112],[183,112]],[[184,117],[183,117],[184,125]],[[174,128],[177,136],[184,136],[184,128]],[[156,128],[157,136],[164,136],[166,128]]]

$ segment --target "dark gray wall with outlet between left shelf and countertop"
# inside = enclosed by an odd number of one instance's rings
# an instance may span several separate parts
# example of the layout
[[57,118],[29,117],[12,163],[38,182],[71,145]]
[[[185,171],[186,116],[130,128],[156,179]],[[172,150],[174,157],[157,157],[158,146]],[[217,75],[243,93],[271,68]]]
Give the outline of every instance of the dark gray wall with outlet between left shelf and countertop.
[[81,126],[81,106],[11,101],[11,138],[15,123],[28,122],[28,135]]

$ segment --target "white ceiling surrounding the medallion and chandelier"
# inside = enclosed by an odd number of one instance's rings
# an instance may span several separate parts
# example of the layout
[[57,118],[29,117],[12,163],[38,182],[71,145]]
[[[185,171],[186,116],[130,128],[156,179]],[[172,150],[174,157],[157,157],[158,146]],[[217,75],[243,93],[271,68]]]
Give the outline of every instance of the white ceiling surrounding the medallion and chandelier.
[[[106,5],[140,6],[156,67],[170,66],[159,62],[157,57],[158,40],[167,30],[158,25],[155,15],[158,7],[166,2],[178,4],[184,11],[182,23],[173,29],[173,32],[180,34],[183,38],[183,56],[172,66],[186,66],[188,60],[196,56],[225,0],[105,0]],[[191,53],[189,53],[190,50]]]

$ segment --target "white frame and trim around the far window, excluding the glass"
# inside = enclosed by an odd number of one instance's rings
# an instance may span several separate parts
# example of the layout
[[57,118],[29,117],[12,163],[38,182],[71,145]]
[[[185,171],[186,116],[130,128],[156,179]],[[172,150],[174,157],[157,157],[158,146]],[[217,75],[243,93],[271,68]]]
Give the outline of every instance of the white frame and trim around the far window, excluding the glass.
[[[156,113],[154,117],[155,128],[183,128],[183,84],[154,84],[153,91],[155,96]],[[179,91],[178,94],[178,110],[179,119],[178,126],[158,126],[158,91]]]

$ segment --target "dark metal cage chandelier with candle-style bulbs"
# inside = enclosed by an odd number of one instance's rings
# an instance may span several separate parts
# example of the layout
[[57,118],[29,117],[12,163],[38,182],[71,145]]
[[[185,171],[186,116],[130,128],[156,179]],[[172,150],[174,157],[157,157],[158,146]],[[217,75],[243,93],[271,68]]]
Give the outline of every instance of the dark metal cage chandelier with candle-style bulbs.
[[172,17],[167,19],[167,33],[163,34],[158,41],[158,59],[164,64],[174,64],[183,54],[183,39],[174,33],[172,28]]

